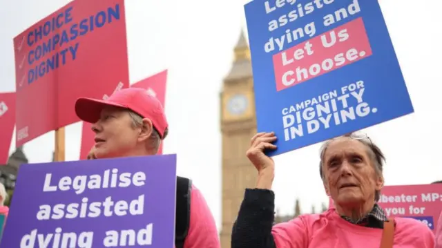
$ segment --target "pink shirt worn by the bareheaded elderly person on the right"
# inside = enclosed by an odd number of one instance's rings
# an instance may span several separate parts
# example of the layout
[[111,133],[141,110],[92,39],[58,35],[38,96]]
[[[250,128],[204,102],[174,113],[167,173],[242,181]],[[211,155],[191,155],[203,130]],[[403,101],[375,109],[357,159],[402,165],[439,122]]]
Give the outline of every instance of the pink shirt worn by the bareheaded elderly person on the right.
[[[394,248],[434,248],[434,234],[411,218],[395,218]],[[347,222],[334,209],[299,216],[275,225],[273,237],[278,248],[379,248],[382,229]]]

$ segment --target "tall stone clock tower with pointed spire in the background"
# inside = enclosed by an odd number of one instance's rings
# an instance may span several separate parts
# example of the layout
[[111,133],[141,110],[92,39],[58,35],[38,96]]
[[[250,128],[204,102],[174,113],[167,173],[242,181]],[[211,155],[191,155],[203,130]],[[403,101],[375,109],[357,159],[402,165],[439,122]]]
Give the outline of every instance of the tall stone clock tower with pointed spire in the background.
[[230,248],[231,230],[244,189],[256,184],[256,169],[246,157],[256,133],[255,96],[250,49],[241,32],[234,49],[232,68],[220,94],[222,133],[222,230],[221,247]]

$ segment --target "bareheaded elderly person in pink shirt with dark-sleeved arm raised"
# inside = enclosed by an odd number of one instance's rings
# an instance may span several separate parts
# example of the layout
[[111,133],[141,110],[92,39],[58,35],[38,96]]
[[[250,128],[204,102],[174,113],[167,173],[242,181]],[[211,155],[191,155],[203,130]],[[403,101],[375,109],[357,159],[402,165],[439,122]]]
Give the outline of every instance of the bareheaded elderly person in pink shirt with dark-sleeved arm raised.
[[320,175],[336,208],[273,226],[275,164],[264,151],[276,149],[274,141],[274,133],[258,133],[251,140],[247,157],[258,181],[256,189],[245,191],[232,248],[434,248],[434,234],[423,223],[387,220],[376,204],[384,184],[384,155],[362,133],[328,140],[321,149]]

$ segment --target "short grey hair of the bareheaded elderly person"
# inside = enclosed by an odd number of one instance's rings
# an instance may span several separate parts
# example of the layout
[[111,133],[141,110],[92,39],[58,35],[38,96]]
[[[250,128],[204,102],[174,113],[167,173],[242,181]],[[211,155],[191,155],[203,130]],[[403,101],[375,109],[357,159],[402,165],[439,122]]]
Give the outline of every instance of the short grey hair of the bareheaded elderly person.
[[[341,138],[341,137],[349,137],[354,140],[358,140],[358,142],[361,142],[362,144],[364,144],[367,147],[367,153],[368,153],[369,157],[372,159],[372,164],[374,165],[374,169],[375,169],[376,173],[378,173],[379,176],[383,177],[383,166],[385,163],[385,155],[383,154],[381,149],[378,146],[376,146],[376,144],[374,144],[372,142],[372,140],[370,140],[369,137],[354,138],[352,136],[352,133],[348,133],[346,135],[335,137],[333,139],[327,140],[326,142],[324,142],[323,146],[321,146],[319,174],[320,174],[320,178],[323,180],[323,182],[326,180],[325,175],[323,173],[325,151],[327,151],[327,148],[329,147],[329,144],[332,141],[334,141],[338,138]],[[374,192],[374,200],[376,202],[378,202],[379,198],[381,198],[381,191],[375,191]]]

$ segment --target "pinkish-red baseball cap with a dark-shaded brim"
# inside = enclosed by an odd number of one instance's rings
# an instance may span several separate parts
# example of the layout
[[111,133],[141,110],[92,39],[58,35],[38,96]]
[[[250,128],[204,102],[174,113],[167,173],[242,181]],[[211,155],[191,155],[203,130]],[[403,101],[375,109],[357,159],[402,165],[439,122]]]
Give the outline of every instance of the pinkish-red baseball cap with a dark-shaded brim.
[[106,106],[131,110],[152,121],[153,127],[164,138],[168,128],[166,115],[161,102],[143,88],[124,88],[113,93],[106,100],[81,97],[75,102],[75,113],[84,122],[95,123]]

